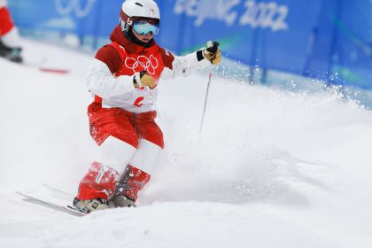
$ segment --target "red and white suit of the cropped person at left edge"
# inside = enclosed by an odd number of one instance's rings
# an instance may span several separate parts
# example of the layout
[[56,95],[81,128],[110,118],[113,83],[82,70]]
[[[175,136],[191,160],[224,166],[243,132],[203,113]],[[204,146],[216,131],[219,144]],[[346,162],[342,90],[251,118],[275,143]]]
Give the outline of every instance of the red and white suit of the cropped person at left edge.
[[17,27],[14,26],[11,12],[5,0],[0,0],[0,39],[7,47],[20,47]]

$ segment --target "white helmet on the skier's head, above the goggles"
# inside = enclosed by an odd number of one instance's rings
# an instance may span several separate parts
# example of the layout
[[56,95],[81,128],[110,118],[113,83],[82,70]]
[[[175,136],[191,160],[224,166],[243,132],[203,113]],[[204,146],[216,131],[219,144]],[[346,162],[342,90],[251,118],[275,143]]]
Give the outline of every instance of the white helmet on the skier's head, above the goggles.
[[[128,36],[136,21],[147,21],[158,26],[159,31],[160,11],[158,4],[153,0],[126,0],[121,5],[120,27],[124,35]],[[131,28],[132,27],[132,28]]]

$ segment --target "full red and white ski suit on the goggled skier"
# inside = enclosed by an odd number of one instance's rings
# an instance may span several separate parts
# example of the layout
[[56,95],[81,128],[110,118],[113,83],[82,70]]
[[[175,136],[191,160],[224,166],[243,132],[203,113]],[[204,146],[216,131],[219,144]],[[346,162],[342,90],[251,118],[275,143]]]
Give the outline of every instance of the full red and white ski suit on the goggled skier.
[[[94,94],[88,108],[90,134],[100,152],[81,180],[77,198],[109,199],[121,177],[127,182],[120,194],[136,201],[164,148],[154,110],[159,79],[188,75],[212,64],[201,51],[176,57],[154,40],[144,48],[130,42],[120,26],[110,38],[112,43],[97,51],[87,75]],[[134,74],[143,70],[155,79],[153,89],[135,88]]]

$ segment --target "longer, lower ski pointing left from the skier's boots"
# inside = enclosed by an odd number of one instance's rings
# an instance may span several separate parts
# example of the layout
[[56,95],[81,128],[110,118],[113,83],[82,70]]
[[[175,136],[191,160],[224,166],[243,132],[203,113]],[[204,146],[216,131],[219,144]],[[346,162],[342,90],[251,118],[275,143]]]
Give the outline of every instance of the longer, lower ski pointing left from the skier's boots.
[[30,194],[25,194],[25,193],[20,192],[20,191],[16,191],[16,193],[19,194],[20,196],[26,198],[25,201],[27,201],[29,203],[32,203],[32,204],[35,204],[35,205],[43,205],[43,206],[49,207],[50,209],[57,210],[57,211],[62,212],[62,213],[68,213],[68,214],[78,216],[78,217],[81,217],[81,216],[84,216],[84,215],[87,214],[87,213],[80,212],[78,209],[76,209],[72,205],[62,205],[62,204],[54,203],[50,200],[38,198],[38,197],[32,196]]

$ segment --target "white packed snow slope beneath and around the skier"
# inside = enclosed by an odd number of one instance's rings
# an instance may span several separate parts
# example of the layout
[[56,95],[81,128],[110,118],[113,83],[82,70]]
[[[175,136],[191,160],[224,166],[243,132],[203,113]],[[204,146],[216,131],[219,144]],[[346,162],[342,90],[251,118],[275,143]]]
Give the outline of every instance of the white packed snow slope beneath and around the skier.
[[14,191],[43,183],[74,195],[97,151],[93,55],[28,41],[25,56],[0,59],[1,247],[371,247],[372,112],[214,76],[199,136],[207,72],[160,82],[166,148],[139,207],[78,218],[25,201]]

